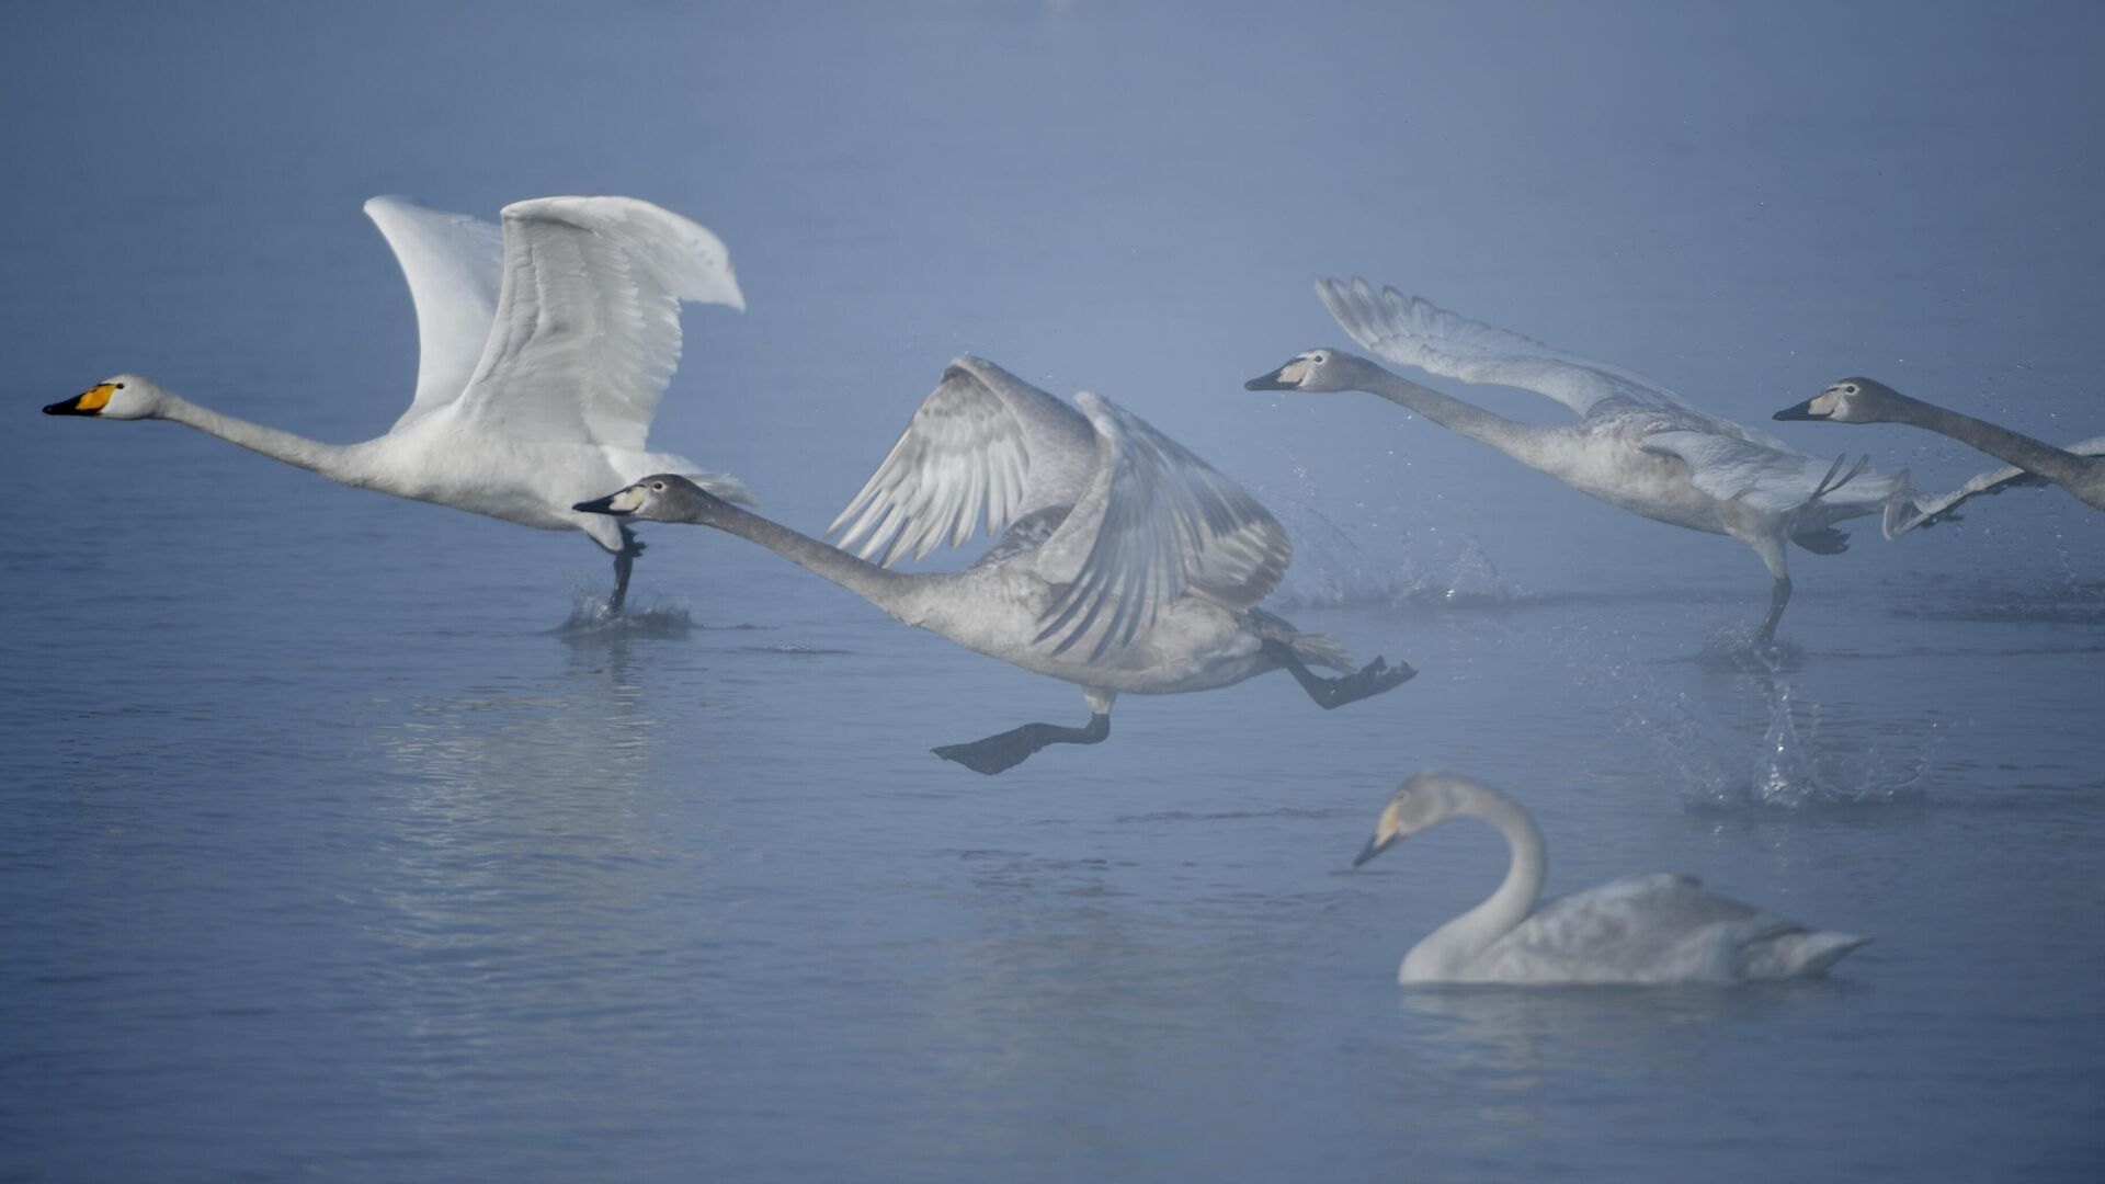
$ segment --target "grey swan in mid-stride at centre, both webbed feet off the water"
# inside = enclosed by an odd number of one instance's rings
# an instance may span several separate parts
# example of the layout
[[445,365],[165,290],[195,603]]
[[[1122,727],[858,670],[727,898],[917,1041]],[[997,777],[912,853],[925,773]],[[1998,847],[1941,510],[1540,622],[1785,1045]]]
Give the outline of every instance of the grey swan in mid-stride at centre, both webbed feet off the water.
[[[1078,394],[1082,413],[981,358],[958,358],[831,531],[893,563],[951,546],[985,518],[1000,541],[960,573],[897,573],[747,514],[676,476],[579,510],[697,522],[751,539],[893,617],[1082,687],[1086,727],[1029,723],[935,754],[1000,773],[1046,744],[1097,744],[1120,693],[1170,695],[1286,668],[1324,708],[1415,670],[1351,670],[1330,638],[1257,607],[1286,573],[1280,522],[1141,417]],[[831,533],[829,531],[829,533]]]

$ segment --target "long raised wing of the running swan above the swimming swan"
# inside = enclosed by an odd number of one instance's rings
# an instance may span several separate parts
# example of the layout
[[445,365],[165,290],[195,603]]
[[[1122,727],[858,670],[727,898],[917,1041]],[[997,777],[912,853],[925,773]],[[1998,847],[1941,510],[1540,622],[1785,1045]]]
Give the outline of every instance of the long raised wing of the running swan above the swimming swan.
[[1606,402],[1682,407],[1688,402],[1657,381],[1551,350],[1532,337],[1469,320],[1396,289],[1379,293],[1366,280],[1316,276],[1316,295],[1351,339],[1381,358],[1469,383],[1513,386],[1547,394],[1579,415]]

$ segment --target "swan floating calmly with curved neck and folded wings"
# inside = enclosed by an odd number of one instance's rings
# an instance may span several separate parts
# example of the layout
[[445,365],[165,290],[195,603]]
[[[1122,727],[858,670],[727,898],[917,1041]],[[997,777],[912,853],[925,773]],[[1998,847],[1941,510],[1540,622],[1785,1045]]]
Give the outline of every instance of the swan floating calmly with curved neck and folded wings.
[[1869,942],[1806,929],[1676,874],[1629,876],[1535,908],[1549,866],[1535,822],[1499,790],[1452,773],[1419,773],[1404,782],[1354,866],[1455,817],[1497,826],[1513,862],[1484,904],[1404,954],[1398,982],[1758,982],[1823,973]]

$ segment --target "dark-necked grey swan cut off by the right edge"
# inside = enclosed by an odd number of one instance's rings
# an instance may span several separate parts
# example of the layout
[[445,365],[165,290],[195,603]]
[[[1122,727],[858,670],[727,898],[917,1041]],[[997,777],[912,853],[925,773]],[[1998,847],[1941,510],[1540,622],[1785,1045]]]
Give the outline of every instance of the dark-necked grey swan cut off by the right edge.
[[1983,472],[1951,493],[1928,499],[1905,485],[1907,470],[1901,470],[1901,487],[1886,506],[1888,539],[1905,535],[1916,527],[1934,527],[1945,518],[1956,518],[1953,510],[1968,497],[2002,493],[2021,485],[2059,485],[2082,499],[2084,506],[2105,510],[2105,436],[2092,436],[2067,449],[2057,449],[1998,423],[1909,398],[1882,381],[1865,377],[1827,383],[1827,390],[1812,398],[1779,411],[1777,419],[1913,423],[1916,428],[1928,428],[1939,436],[1951,436],[1962,445],[1972,445],[1991,457],[2010,461],[2008,468]]

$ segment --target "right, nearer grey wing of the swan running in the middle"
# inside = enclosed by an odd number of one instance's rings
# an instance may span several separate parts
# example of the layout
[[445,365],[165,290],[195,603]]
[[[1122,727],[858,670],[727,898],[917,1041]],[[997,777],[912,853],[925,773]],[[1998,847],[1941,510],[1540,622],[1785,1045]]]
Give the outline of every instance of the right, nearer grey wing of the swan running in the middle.
[[1076,402],[1097,432],[1097,470],[1038,548],[1038,575],[1067,584],[1038,640],[1061,636],[1063,653],[1109,613],[1097,659],[1185,592],[1248,609],[1278,588],[1295,550],[1269,510],[1139,415],[1088,392]]

